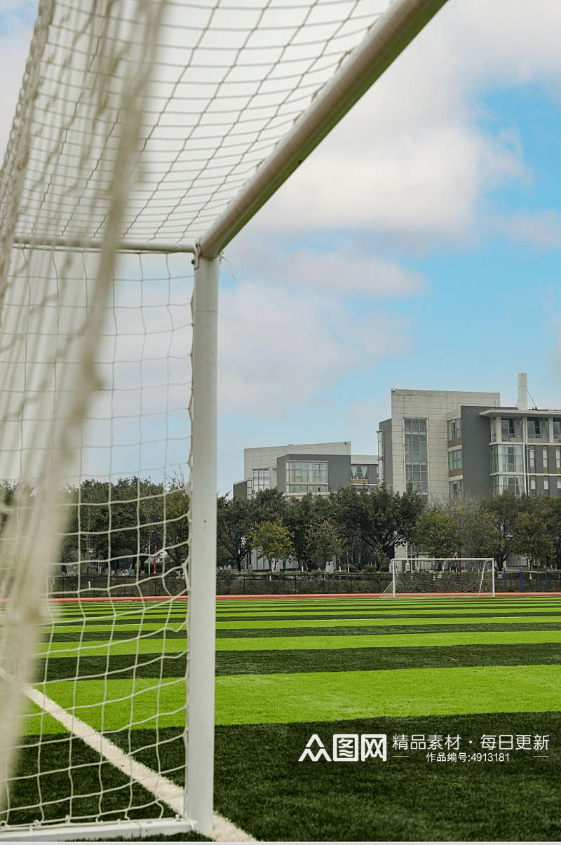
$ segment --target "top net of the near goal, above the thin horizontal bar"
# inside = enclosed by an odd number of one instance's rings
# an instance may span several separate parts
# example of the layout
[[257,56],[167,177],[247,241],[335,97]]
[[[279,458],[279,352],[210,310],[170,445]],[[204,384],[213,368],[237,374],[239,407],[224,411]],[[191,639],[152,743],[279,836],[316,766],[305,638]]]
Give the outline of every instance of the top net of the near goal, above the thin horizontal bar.
[[[124,164],[127,175],[143,178],[128,186],[119,236],[143,243],[200,237],[388,4],[169,0],[139,141]],[[136,5],[41,3],[41,19],[52,22],[41,26],[37,39],[38,50],[44,42],[39,67],[36,61],[29,67],[36,96],[18,220],[22,237],[95,238],[106,226],[111,177],[99,162],[117,160],[121,90],[134,65],[132,46],[144,39],[131,23]],[[106,59],[103,73],[90,68],[92,56]],[[105,98],[103,119],[86,127],[82,103],[96,93]],[[12,144],[8,178],[13,158]]]

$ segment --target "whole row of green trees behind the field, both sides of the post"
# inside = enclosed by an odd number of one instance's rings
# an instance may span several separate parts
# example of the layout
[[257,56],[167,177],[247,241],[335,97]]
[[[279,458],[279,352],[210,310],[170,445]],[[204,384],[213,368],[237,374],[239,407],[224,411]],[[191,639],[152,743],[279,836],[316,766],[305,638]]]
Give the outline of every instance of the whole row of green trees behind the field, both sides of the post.
[[[15,490],[4,485],[4,504]],[[21,493],[21,491],[20,491]],[[31,493],[32,495],[32,493]],[[19,498],[21,495],[19,494]],[[112,483],[87,479],[68,488],[63,564],[77,561],[115,569],[147,565],[166,549],[169,566],[188,553],[188,493],[182,477],[152,482],[139,477]],[[336,559],[345,569],[386,569],[395,546],[415,543],[435,558],[493,558],[516,553],[534,564],[561,564],[561,499],[489,499],[427,504],[412,489],[391,493],[340,488],[329,496],[287,498],[264,490],[252,499],[218,498],[218,564],[241,569],[256,550],[271,569],[297,559],[302,569],[324,569]]]

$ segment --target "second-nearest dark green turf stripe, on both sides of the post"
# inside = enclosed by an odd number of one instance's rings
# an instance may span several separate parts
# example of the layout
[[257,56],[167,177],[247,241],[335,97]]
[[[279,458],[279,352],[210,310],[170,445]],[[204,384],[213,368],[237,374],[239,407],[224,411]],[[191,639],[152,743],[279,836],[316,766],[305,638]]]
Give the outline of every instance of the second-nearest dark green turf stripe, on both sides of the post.
[[[341,653],[344,657],[341,657]],[[46,680],[103,677],[109,679],[177,678],[185,673],[185,656],[144,654],[84,657],[79,666],[72,657],[52,657],[46,662]],[[216,674],[271,674],[294,672],[343,672],[346,670],[406,669],[449,666],[517,666],[561,663],[558,643],[539,645],[411,646],[408,648],[355,648],[341,651],[218,651]],[[41,662],[37,679],[45,679]]]

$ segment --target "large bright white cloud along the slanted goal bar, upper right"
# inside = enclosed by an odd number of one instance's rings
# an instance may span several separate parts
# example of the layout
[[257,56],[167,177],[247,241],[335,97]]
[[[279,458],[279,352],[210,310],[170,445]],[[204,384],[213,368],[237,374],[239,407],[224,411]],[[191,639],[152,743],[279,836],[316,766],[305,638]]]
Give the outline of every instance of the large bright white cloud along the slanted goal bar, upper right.
[[558,86],[560,32],[553,0],[531,14],[518,0],[449,3],[253,226],[361,229],[400,243],[476,233],[482,199],[531,178],[516,128],[483,129],[477,97],[529,81]]

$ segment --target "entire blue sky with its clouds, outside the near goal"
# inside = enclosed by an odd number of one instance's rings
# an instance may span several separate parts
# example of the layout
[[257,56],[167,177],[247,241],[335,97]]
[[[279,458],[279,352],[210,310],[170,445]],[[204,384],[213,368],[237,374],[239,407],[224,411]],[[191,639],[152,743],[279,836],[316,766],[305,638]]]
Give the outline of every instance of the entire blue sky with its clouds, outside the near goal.
[[[0,0],[9,114],[18,8]],[[375,453],[392,387],[512,404],[526,371],[561,406],[560,38],[557,0],[449,0],[226,249],[221,492],[244,446]]]

